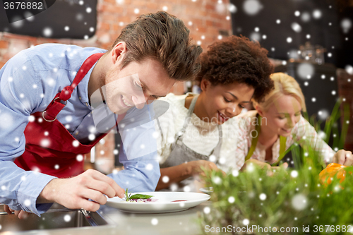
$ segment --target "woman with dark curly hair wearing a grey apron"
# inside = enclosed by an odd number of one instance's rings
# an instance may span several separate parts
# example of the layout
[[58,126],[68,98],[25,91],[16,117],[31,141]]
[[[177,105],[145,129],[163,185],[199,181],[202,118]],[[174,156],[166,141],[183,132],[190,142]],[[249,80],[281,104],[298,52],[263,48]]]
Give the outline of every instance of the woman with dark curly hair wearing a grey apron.
[[[156,128],[161,177],[157,190],[191,182],[203,168],[239,169],[234,157],[238,125],[233,117],[251,99],[261,102],[273,88],[268,51],[246,37],[227,37],[201,54],[201,94],[168,94],[169,111]],[[176,189],[176,188],[172,188]],[[193,190],[186,188],[186,190]]]

